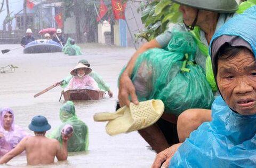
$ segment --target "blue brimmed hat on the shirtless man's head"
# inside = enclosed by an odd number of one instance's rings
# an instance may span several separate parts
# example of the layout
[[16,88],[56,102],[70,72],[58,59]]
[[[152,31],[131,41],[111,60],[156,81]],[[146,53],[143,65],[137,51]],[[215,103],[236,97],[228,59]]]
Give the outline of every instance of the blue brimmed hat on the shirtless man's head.
[[35,132],[44,132],[51,129],[51,125],[48,123],[44,116],[33,117],[31,123],[28,125],[29,130]]

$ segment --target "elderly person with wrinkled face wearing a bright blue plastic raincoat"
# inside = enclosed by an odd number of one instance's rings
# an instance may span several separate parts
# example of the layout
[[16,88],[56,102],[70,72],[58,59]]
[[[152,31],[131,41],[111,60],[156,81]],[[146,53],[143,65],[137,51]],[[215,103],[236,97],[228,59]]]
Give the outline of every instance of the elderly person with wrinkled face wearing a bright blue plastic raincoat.
[[255,11],[253,6],[230,19],[211,41],[221,94],[212,105],[212,122],[203,123],[182,145],[159,153],[153,167],[165,161],[162,167],[167,167],[170,158],[170,167],[255,167]]

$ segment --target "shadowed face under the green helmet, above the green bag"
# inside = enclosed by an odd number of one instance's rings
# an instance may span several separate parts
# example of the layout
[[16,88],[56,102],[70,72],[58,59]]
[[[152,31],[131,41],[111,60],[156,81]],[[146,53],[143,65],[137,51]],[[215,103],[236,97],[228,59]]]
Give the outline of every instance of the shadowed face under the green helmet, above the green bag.
[[180,5],[179,11],[182,13],[183,21],[187,26],[191,26],[196,18],[197,9],[185,5]]

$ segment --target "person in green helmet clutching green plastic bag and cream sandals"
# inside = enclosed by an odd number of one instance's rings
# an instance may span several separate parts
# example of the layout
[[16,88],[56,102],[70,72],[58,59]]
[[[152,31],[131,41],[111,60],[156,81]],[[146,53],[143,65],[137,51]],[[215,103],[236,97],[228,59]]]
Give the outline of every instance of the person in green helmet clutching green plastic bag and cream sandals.
[[[238,5],[235,0],[226,0],[226,1],[212,1],[212,0],[173,0],[173,2],[180,4],[180,12],[183,15],[183,22],[184,24],[175,25],[174,28],[182,31],[193,30],[195,26],[200,28],[199,31],[199,43],[202,43],[199,46],[199,50],[196,54],[195,61],[198,65],[202,66],[203,69],[208,69],[211,67],[206,67],[206,61],[210,61],[207,59],[207,55],[203,53],[203,47],[209,46],[211,41],[212,35],[214,34],[215,30],[218,30],[229,18],[233,17],[235,11],[238,9]],[[156,39],[143,44],[140,49],[137,50],[132,55],[131,60],[127,64],[126,69],[124,70],[123,74],[119,78],[119,93],[118,99],[121,106],[129,106],[131,97],[131,101],[135,104],[138,104],[138,97],[137,97],[137,86],[131,81],[133,69],[135,62],[137,61],[139,55],[149,49],[157,48],[164,48],[169,43],[170,39],[172,38],[172,28],[165,31],[164,34],[159,35]],[[209,57],[208,57],[209,58]],[[207,60],[206,60],[207,59]],[[214,81],[214,80],[213,80]],[[145,84],[140,84],[145,85]],[[213,86],[214,87],[214,86]],[[140,97],[140,95],[138,95]],[[197,121],[191,122],[191,124],[196,125],[196,127],[201,124],[203,121],[210,121],[211,120],[211,111],[210,110],[199,110],[199,113],[206,114],[204,115],[202,121],[198,119]],[[173,116],[170,116],[166,113],[163,114],[162,119],[170,122],[175,122],[175,119],[172,119]],[[177,120],[176,120],[177,121]],[[159,121],[160,122],[160,121]],[[189,121],[190,122],[190,121]],[[187,124],[187,123],[186,123]],[[165,129],[166,125],[161,126],[163,124],[157,123],[152,125],[146,129],[140,130],[139,133],[142,137],[149,143],[157,153],[162,151],[163,149],[169,147],[169,143],[164,136],[163,130]],[[181,124],[183,126],[185,124]],[[160,126],[160,129],[159,129]],[[190,128],[192,126],[188,126]],[[182,128],[181,128],[182,129]],[[183,129],[184,130],[184,129]],[[170,134],[170,130],[167,129],[167,134]],[[172,136],[175,137],[175,132],[172,133]]]

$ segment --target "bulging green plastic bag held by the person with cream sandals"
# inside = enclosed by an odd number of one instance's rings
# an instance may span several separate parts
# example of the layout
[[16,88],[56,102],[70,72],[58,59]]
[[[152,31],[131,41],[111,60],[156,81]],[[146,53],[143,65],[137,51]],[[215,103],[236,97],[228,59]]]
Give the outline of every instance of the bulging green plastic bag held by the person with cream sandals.
[[139,101],[161,99],[165,111],[174,115],[189,108],[210,109],[213,92],[203,68],[195,64],[196,50],[193,35],[173,31],[165,49],[142,53],[131,76]]

